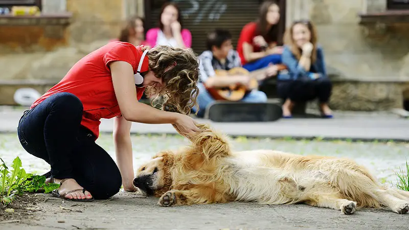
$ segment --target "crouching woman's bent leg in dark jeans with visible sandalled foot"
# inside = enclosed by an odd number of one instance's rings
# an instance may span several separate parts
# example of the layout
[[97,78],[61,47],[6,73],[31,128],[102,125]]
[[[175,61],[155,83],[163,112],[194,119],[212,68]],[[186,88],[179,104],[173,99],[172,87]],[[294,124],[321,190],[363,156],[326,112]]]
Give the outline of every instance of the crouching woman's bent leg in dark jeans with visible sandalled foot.
[[[77,135],[81,124],[83,106],[73,94],[59,93],[50,96],[31,109],[19,122],[20,143],[32,155],[46,160],[51,175],[58,183],[73,178],[73,148],[78,144]],[[76,160],[82,160],[76,158]],[[60,187],[60,194],[81,189],[73,179]],[[90,198],[88,192],[85,193]],[[81,192],[66,194],[65,198],[85,198]]]

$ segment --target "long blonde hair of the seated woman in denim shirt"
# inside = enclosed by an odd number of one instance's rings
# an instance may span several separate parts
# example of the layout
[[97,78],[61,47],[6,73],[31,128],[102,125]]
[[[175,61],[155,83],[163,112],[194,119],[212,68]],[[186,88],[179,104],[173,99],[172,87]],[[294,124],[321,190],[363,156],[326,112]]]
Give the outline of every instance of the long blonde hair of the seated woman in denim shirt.
[[294,43],[294,39],[292,36],[293,33],[293,29],[294,26],[298,25],[298,24],[302,24],[305,25],[308,30],[311,33],[311,40],[310,42],[313,45],[313,49],[311,52],[311,62],[314,63],[316,60],[316,45],[317,45],[317,31],[316,28],[314,26],[314,24],[312,24],[312,22],[310,20],[297,20],[292,22],[291,27],[288,28],[288,30],[285,32],[284,34],[284,44],[288,45],[288,47],[290,47],[291,49],[291,53],[297,57],[298,60],[300,60],[301,58],[301,49],[297,46],[297,44]]

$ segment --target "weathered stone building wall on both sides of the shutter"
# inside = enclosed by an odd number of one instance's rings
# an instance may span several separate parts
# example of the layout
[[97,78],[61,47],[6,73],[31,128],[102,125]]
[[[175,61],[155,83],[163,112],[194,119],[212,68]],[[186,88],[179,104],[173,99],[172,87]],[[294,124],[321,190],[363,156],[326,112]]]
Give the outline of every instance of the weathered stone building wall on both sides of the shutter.
[[[118,36],[126,17],[144,13],[143,0],[42,1],[48,11],[71,12],[69,24],[10,26],[0,20],[0,85],[18,79],[58,82],[77,60]],[[317,27],[327,66],[338,75],[334,109],[399,108],[409,98],[409,23],[359,23],[359,13],[383,12],[386,2],[286,0],[287,26],[308,18]],[[12,97],[0,97],[0,104],[13,103]]]

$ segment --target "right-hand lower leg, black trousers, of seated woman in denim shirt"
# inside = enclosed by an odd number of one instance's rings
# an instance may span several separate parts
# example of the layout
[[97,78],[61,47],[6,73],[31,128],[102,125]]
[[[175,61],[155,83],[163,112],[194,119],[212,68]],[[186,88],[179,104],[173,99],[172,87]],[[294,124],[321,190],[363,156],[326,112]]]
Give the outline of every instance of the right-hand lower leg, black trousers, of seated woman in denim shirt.
[[328,106],[331,97],[332,83],[328,78],[319,78],[314,81],[315,92],[320,101],[320,109],[324,118],[332,118],[332,110]]

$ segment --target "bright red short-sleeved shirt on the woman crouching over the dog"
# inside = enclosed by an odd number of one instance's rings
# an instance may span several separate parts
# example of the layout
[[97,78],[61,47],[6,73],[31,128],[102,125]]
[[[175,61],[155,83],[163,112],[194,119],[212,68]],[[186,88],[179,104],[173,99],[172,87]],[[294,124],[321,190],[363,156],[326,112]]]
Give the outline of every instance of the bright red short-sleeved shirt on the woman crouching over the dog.
[[[142,46],[135,47],[131,43],[121,41],[109,42],[75,63],[65,77],[37,99],[31,108],[51,95],[72,93],[80,99],[84,107],[81,125],[98,138],[101,118],[121,116],[108,64],[112,61],[126,61],[132,65],[136,74],[142,54]],[[146,55],[141,72],[149,70],[148,62]],[[137,88],[138,100],[141,99],[144,89]]]

